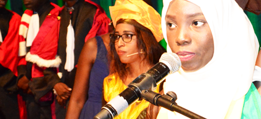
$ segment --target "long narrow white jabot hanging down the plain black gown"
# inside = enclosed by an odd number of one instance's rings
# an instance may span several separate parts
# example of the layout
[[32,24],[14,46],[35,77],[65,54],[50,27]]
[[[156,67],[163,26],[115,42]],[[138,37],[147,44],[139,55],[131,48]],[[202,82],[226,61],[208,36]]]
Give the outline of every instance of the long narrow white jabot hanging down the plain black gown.
[[74,68],[74,30],[70,23],[67,27],[66,36],[66,62],[64,69],[70,72]]

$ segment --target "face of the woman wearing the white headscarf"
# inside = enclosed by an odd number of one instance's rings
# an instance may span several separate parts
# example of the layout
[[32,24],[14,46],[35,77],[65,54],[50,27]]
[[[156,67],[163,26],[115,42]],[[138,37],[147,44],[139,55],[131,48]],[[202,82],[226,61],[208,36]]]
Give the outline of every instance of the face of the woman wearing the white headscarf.
[[205,66],[214,53],[213,37],[199,6],[173,0],[165,17],[168,44],[186,72]]

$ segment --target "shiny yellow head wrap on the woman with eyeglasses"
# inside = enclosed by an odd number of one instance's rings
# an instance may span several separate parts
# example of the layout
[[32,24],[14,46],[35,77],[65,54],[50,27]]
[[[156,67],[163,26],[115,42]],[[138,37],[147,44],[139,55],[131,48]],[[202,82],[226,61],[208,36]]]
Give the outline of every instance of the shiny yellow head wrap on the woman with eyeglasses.
[[157,11],[143,0],[116,0],[109,6],[114,27],[119,19],[133,19],[148,28],[157,42],[162,40],[161,18]]

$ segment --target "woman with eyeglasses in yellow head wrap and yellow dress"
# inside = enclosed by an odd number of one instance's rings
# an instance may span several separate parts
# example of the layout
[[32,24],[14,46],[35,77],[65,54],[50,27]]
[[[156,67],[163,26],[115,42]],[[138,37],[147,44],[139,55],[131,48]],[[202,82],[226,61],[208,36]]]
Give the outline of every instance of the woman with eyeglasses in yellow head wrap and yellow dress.
[[[158,44],[162,39],[160,15],[151,6],[142,0],[116,0],[109,10],[115,30],[110,34],[109,76],[103,82],[106,102],[149,70],[165,51]],[[138,101],[115,119],[142,119],[139,114],[148,104],[145,100]]]

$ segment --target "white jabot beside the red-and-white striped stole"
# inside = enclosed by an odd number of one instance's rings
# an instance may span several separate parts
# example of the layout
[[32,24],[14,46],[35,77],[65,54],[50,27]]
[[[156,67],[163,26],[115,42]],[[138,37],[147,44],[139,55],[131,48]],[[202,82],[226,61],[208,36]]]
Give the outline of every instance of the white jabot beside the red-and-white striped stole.
[[27,37],[26,37],[26,47],[31,46],[38,31],[39,31],[39,16],[36,13],[36,14],[33,14],[30,18],[30,23],[29,23]]

